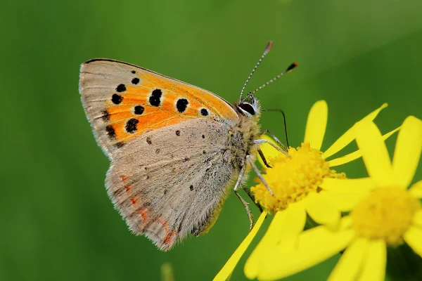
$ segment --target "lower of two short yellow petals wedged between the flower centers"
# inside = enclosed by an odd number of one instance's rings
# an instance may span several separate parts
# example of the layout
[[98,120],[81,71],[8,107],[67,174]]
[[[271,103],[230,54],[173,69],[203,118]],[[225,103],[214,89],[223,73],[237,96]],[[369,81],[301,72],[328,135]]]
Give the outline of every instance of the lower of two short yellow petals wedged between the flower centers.
[[353,192],[353,193],[340,193],[335,191],[319,192],[321,200],[330,202],[338,211],[351,211],[356,205],[364,198],[368,192]]

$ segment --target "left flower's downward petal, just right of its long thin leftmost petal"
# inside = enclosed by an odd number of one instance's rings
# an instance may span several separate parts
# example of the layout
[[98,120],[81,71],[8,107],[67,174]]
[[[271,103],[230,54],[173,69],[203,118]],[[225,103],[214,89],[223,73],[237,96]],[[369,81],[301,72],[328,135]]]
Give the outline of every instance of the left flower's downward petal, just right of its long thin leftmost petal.
[[279,242],[281,238],[280,233],[286,226],[284,223],[285,221],[286,210],[278,211],[271,221],[271,224],[269,225],[269,228],[264,237],[262,237],[260,243],[257,244],[257,247],[252,251],[252,254],[250,254],[248,260],[245,263],[244,270],[245,276],[249,279],[255,279],[255,277],[257,277],[260,261],[265,259],[267,256],[267,251],[269,251],[269,249],[273,249]]

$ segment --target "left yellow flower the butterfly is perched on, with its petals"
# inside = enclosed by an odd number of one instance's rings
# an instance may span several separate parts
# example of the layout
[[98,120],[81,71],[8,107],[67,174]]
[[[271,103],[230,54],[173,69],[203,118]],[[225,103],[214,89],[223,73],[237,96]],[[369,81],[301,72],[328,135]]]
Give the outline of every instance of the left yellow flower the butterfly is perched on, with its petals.
[[[371,122],[386,106],[386,104],[382,105],[364,117],[362,121]],[[257,277],[260,265],[266,262],[266,259],[262,259],[262,255],[270,249],[277,247],[281,251],[293,251],[295,241],[305,226],[306,214],[309,214],[316,223],[335,229],[340,226],[340,212],[350,211],[362,198],[359,197],[360,194],[338,198],[337,193],[321,189],[321,184],[326,179],[345,178],[344,174],[337,174],[329,169],[331,166],[345,164],[362,156],[362,152],[358,150],[349,155],[326,161],[327,157],[331,157],[354,140],[354,126],[352,126],[328,150],[320,152],[327,118],[326,102],[324,100],[316,102],[309,112],[302,146],[298,149],[289,149],[289,153],[292,155],[291,159],[281,153],[274,154],[272,152],[274,150],[269,150],[269,145],[267,148],[262,145],[261,149],[264,151],[264,155],[269,157],[273,166],[272,169],[266,170],[267,174],[264,175],[264,178],[271,186],[275,197],[269,195],[262,183],[252,188],[256,200],[262,204],[265,211],[262,212],[255,227],[220,270],[215,280],[226,280],[229,277],[268,212],[276,212],[274,219],[245,265],[245,275],[250,279]],[[395,131],[397,129],[383,138],[388,138]]]

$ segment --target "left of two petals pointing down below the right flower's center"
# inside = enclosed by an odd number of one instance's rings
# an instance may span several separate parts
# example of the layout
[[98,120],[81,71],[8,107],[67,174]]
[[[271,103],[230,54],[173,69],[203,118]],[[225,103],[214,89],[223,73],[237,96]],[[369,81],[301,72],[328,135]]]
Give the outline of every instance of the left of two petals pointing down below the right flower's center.
[[355,280],[362,268],[362,263],[366,258],[366,249],[368,248],[368,240],[357,238],[347,247],[340,261],[333,269],[328,277],[328,281],[352,281]]

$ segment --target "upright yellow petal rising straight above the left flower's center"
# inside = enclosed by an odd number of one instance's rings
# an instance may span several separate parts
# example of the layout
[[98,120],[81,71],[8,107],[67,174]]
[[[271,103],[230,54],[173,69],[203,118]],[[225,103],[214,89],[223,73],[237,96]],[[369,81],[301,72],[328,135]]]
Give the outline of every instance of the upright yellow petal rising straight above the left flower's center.
[[327,126],[328,106],[325,100],[319,100],[309,111],[306,129],[305,143],[310,143],[312,148],[321,150],[322,141]]

